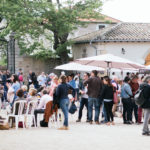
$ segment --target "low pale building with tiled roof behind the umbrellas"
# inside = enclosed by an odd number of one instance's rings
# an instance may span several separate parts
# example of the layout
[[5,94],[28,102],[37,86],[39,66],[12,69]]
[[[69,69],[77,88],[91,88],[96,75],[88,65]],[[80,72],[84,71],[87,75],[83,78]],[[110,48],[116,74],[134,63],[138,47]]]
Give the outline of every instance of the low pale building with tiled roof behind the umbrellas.
[[150,23],[118,23],[74,39],[74,59],[111,53],[150,65]]

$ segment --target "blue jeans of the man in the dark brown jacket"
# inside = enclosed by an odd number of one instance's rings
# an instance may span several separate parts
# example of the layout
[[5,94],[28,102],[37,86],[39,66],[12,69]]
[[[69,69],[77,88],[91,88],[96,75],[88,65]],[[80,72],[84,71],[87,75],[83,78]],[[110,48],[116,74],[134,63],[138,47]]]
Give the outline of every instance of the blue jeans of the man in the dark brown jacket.
[[88,117],[89,121],[93,118],[93,106],[95,108],[95,122],[99,121],[101,101],[98,98],[88,98]]

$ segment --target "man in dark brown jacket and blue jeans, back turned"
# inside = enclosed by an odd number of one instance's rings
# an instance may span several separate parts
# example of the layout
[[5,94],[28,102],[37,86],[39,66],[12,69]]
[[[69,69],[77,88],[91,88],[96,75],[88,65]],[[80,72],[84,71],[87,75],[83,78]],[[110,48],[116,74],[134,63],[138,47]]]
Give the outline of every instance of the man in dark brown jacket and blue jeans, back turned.
[[84,82],[84,85],[88,85],[88,117],[89,122],[92,124],[93,117],[93,106],[95,107],[95,123],[99,124],[99,113],[100,113],[100,91],[102,88],[102,82],[97,76],[98,72],[93,70],[91,72],[91,77]]

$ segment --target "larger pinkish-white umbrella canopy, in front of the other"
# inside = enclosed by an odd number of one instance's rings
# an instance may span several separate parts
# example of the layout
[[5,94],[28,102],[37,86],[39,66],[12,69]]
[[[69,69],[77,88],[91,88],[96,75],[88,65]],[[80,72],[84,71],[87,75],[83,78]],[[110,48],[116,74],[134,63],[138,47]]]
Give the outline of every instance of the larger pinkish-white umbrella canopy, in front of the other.
[[124,59],[112,54],[103,54],[99,56],[81,58],[74,61],[82,65],[91,65],[102,68],[116,68],[116,69],[142,69],[145,66],[132,62],[128,59]]

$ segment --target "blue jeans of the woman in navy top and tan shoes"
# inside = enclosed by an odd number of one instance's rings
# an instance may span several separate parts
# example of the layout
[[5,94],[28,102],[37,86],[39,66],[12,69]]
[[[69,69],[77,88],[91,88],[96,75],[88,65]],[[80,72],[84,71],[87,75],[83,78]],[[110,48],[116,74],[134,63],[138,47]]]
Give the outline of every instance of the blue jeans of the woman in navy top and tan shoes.
[[64,114],[64,126],[68,127],[68,106],[69,99],[61,99],[60,100],[60,108]]

